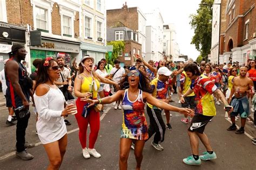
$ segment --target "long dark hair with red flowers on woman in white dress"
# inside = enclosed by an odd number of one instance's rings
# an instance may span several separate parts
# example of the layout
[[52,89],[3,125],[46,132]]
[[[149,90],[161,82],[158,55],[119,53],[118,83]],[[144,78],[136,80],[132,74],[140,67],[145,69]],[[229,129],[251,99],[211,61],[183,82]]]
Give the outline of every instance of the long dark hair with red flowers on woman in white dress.
[[[49,62],[48,66],[44,66],[46,59]],[[56,59],[53,59],[50,57],[48,57],[46,59],[43,59],[42,62],[39,63],[37,77],[36,77],[35,90],[39,84],[44,84],[44,83],[46,83],[46,81],[49,80],[48,69],[53,65],[54,62],[58,63]]]

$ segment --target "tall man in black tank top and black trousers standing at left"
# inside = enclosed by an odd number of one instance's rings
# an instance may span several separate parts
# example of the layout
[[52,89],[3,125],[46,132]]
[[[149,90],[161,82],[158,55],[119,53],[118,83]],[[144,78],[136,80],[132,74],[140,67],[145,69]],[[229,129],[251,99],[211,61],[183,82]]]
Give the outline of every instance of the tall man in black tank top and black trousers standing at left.
[[11,52],[9,53],[11,59],[6,62],[4,71],[8,87],[6,90],[6,100],[11,101],[17,117],[16,157],[30,160],[33,159],[33,155],[26,152],[25,148],[31,148],[35,145],[25,142],[25,132],[30,117],[29,96],[32,94],[28,72],[26,72],[21,64],[21,60],[25,60],[26,53],[23,45],[12,45]]

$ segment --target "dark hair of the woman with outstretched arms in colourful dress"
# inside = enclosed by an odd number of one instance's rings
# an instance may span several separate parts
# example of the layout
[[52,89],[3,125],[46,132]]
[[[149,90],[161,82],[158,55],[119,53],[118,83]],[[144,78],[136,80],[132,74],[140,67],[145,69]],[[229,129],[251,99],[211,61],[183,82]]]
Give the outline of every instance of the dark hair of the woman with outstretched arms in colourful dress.
[[[150,86],[150,80],[149,78],[146,76],[145,73],[139,71],[136,69],[137,72],[139,72],[139,85],[138,85],[138,89],[144,91],[144,92],[148,92],[151,93],[151,86]],[[124,90],[124,89],[129,89],[129,83],[128,83],[128,76],[127,74],[125,74],[125,76],[123,76],[122,80],[119,82],[119,86],[120,89]]]

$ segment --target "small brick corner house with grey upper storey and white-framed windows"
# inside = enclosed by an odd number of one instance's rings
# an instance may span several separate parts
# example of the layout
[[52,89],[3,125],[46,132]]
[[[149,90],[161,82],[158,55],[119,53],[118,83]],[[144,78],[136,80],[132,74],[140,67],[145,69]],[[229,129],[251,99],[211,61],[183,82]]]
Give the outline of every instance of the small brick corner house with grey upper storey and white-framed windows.
[[127,27],[107,28],[107,42],[124,40],[124,51],[119,52],[120,65],[134,65],[135,54],[142,55],[142,44],[138,43],[138,32]]

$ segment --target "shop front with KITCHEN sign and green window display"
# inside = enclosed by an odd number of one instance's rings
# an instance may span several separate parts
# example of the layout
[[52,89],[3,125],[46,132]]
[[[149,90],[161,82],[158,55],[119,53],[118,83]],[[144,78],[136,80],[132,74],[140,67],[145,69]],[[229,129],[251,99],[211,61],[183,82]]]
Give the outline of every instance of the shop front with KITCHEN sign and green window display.
[[31,70],[35,71],[32,65],[33,60],[46,57],[64,57],[65,64],[72,66],[75,59],[79,59],[80,43],[68,42],[65,40],[57,40],[51,38],[42,38],[42,44],[30,46]]

